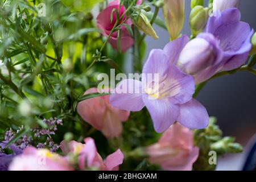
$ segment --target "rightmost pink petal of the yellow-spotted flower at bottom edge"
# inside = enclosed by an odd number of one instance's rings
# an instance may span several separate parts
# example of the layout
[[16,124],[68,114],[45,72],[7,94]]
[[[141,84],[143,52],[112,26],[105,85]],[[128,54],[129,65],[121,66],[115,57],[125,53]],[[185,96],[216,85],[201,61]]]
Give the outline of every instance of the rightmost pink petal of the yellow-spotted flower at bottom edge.
[[108,171],[115,171],[118,169],[118,166],[123,163],[123,153],[120,149],[115,151],[113,154],[110,154],[106,160],[105,165]]

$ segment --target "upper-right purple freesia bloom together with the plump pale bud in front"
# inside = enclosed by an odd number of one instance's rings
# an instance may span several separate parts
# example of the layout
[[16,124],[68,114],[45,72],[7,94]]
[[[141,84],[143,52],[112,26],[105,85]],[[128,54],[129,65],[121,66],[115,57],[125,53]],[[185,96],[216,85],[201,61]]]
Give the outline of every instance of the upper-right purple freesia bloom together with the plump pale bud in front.
[[240,21],[240,11],[233,8],[216,14],[208,19],[204,32],[188,42],[177,62],[181,70],[195,77],[196,84],[245,64],[251,49],[254,31]]

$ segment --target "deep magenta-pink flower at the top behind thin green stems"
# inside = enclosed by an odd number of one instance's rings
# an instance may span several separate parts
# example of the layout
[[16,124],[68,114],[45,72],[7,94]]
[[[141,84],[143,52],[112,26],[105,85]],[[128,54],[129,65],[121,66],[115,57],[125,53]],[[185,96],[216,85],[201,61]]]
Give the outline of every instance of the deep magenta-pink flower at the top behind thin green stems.
[[[141,4],[141,0],[138,0],[137,5]],[[109,36],[110,31],[114,27],[114,24],[117,20],[117,14],[113,13],[113,19],[112,22],[110,22],[110,16],[113,9],[119,9],[119,0],[115,0],[109,3],[108,7],[101,11],[101,13],[97,16],[97,26],[102,30],[102,34],[105,36]],[[119,10],[119,16],[121,16],[123,13],[125,13],[126,9],[125,6],[121,5]],[[124,22],[126,19],[126,15],[122,17],[119,23]],[[129,18],[126,22],[129,26],[131,26],[132,22]],[[118,49],[117,46],[117,34],[118,32],[115,31],[110,36],[109,43],[112,45],[114,49]],[[133,46],[134,40],[132,36],[129,34],[129,31],[127,31],[125,26],[121,26],[121,51],[125,52],[127,49],[129,49],[131,46]]]

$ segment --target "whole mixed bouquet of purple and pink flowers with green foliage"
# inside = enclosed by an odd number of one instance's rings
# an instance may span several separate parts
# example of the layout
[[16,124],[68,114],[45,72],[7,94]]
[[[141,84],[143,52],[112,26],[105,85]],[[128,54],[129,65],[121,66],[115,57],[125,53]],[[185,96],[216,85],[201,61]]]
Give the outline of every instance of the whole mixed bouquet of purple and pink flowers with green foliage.
[[[242,152],[195,99],[256,74],[239,3],[191,0],[188,36],[184,0],[1,1],[0,170],[214,170]],[[170,40],[145,55],[153,24]]]

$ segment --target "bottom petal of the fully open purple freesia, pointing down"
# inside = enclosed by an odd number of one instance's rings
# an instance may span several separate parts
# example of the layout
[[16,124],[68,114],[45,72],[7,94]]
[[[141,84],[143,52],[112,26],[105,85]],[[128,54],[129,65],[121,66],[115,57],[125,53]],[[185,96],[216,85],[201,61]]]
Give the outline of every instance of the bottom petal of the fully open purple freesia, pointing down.
[[143,94],[143,101],[151,115],[155,131],[162,133],[174,123],[179,115],[179,106],[171,104],[168,100],[155,100]]

